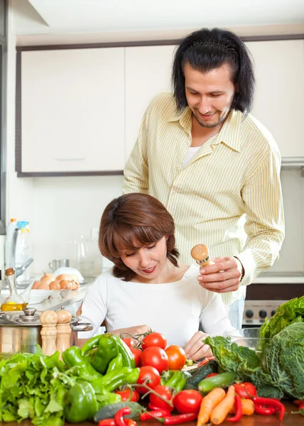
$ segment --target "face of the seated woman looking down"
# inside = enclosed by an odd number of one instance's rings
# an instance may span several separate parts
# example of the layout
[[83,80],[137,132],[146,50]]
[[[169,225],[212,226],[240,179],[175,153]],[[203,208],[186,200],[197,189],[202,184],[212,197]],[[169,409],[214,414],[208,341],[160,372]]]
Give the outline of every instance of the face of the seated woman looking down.
[[140,283],[152,283],[158,281],[167,259],[167,238],[162,239],[146,246],[139,246],[138,241],[134,241],[134,246],[139,247],[136,251],[119,251],[121,261],[128,268],[136,273],[135,280]]

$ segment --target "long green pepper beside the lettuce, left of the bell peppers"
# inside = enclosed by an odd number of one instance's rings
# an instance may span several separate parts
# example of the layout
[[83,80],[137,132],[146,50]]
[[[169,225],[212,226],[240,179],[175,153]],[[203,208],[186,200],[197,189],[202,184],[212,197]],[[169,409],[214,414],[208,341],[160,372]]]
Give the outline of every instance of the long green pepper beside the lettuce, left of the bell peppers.
[[89,364],[89,360],[81,355],[80,348],[77,346],[71,346],[65,349],[62,356],[67,368],[74,366],[79,367],[79,377],[83,380],[92,381],[102,377],[102,375]]

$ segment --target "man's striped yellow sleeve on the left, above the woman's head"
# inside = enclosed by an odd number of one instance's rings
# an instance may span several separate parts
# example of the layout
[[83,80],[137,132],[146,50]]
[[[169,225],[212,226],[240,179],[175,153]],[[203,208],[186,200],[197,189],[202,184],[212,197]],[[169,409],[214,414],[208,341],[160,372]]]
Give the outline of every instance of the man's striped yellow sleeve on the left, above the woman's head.
[[151,104],[148,106],[139,130],[139,137],[129,156],[124,168],[124,182],[122,192],[142,192],[148,194],[149,178],[148,178],[148,158],[147,158],[147,141],[148,141],[148,122],[150,118]]

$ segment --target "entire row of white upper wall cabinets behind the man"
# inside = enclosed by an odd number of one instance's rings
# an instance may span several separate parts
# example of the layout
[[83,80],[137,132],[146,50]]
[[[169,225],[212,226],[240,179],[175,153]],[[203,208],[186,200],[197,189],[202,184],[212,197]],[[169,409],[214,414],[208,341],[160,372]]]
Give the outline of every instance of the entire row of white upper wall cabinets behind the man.
[[[251,114],[273,133],[283,163],[304,164],[304,40],[246,45],[256,75]],[[23,51],[18,171],[121,173],[149,102],[171,91],[175,49],[153,45]]]

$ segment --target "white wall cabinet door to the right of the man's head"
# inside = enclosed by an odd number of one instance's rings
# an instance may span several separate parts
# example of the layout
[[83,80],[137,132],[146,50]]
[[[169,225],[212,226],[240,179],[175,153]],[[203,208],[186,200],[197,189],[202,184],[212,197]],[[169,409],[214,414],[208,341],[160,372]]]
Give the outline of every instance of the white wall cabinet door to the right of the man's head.
[[251,114],[271,131],[283,163],[304,161],[304,40],[246,43],[254,58],[256,92]]

